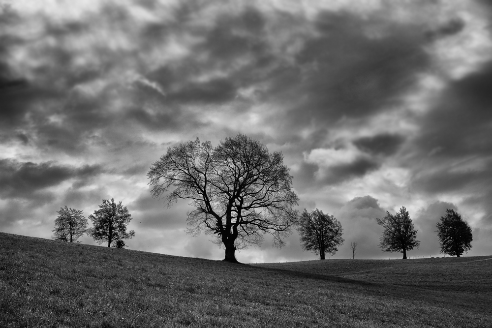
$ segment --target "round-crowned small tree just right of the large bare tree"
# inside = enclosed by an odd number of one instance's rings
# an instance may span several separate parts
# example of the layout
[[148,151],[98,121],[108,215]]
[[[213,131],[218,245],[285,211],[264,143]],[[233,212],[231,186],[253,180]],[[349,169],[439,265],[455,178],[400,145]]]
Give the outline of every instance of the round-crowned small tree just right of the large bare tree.
[[298,221],[297,231],[301,236],[301,246],[305,251],[314,251],[320,259],[325,259],[325,254],[335,255],[338,246],[343,243],[342,227],[333,216],[323,213],[319,209],[312,212],[304,212]]

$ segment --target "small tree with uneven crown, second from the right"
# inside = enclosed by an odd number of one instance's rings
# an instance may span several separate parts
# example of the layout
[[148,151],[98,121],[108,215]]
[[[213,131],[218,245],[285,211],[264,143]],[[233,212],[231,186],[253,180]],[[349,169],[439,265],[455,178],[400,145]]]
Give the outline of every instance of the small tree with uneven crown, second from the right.
[[420,241],[417,240],[417,230],[405,207],[395,215],[386,211],[386,216],[377,218],[376,222],[384,228],[383,235],[379,238],[379,247],[383,252],[403,253],[406,259],[406,251],[414,247],[419,248]]

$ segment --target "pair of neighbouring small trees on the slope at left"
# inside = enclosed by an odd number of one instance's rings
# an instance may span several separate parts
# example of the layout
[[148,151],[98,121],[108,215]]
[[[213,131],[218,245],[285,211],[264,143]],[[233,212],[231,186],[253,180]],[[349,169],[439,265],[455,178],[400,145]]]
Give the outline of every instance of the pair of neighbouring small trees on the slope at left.
[[103,199],[99,209],[89,215],[92,228],[88,228],[88,220],[82,214],[82,210],[71,209],[65,205],[57,213],[55,229],[52,230],[55,240],[77,242],[79,237],[87,234],[98,244],[107,242],[108,247],[124,248],[126,244],[123,239],[135,236],[135,231],[126,231],[126,226],[132,219],[128,209],[122,202],[116,203],[113,198]]

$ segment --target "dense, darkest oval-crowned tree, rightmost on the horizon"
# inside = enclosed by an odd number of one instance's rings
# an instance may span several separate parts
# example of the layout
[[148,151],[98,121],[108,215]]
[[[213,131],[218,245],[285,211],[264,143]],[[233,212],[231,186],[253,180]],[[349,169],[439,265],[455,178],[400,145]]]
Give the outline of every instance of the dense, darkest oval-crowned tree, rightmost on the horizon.
[[446,215],[441,216],[435,231],[439,237],[441,253],[460,257],[463,252],[471,249],[473,235],[471,228],[463,221],[461,215],[453,209],[446,209]]

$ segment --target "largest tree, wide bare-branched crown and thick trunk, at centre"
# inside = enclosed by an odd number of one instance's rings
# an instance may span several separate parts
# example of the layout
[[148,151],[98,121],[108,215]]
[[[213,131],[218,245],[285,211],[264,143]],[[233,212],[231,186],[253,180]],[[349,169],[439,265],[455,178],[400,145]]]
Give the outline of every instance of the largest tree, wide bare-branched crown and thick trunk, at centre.
[[188,233],[215,235],[225,247],[224,261],[237,262],[236,250],[261,244],[266,233],[281,246],[297,218],[299,199],[282,154],[244,134],[216,147],[196,138],[169,148],[147,175],[153,197],[171,189],[168,205],[190,200]]

